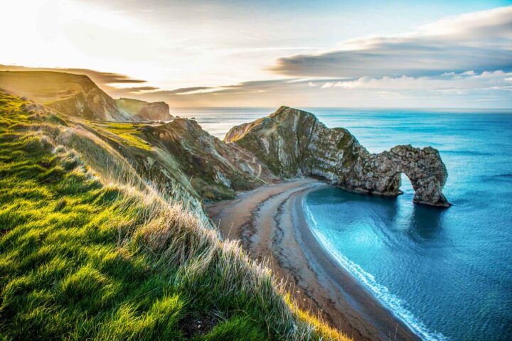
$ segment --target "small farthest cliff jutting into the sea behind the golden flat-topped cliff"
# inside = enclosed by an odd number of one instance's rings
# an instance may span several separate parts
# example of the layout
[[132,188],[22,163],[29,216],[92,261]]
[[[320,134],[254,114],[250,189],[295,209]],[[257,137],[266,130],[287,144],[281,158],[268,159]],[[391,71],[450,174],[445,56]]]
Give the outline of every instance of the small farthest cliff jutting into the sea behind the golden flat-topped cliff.
[[137,121],[169,121],[173,116],[169,113],[166,102],[144,102],[139,99],[119,98],[117,107]]

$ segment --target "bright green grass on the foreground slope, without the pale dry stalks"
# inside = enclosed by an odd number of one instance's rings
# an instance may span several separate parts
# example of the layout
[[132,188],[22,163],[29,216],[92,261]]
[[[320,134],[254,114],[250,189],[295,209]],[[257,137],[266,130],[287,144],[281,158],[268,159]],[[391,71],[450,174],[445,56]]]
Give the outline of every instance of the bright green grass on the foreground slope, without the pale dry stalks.
[[[14,118],[1,114],[2,126]],[[179,337],[186,294],[144,253],[119,245],[146,207],[105,188],[68,153],[52,153],[43,138],[0,131],[4,337]]]

